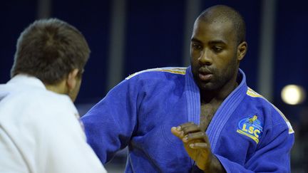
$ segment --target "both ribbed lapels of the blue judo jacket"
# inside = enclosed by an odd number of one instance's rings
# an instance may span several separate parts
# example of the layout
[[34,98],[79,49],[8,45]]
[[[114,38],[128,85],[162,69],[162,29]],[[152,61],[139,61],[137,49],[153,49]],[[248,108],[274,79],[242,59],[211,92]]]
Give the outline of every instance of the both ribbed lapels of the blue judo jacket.
[[[215,151],[218,137],[222,128],[225,126],[227,120],[229,120],[232,112],[241,103],[242,99],[247,93],[246,76],[245,73],[240,70],[239,75],[242,77],[240,85],[228,95],[225,101],[220,105],[220,108],[216,111],[210,125],[207,127],[207,136],[210,140],[212,151]],[[188,121],[200,124],[200,91],[195,80],[193,79],[193,73],[189,67],[186,70],[185,76],[185,92],[188,100]]]

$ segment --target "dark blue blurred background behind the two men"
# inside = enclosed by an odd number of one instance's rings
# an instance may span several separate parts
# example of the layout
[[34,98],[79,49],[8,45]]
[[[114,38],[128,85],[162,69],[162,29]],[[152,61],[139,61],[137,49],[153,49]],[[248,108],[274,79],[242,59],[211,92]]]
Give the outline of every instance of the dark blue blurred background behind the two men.
[[[56,17],[86,37],[91,58],[76,100],[81,115],[132,73],[189,65],[190,33],[197,15],[215,4],[232,6],[247,24],[248,52],[240,66],[247,83],[292,122],[296,134],[292,172],[308,172],[304,159],[308,153],[307,100],[287,105],[280,97],[285,85],[308,88],[306,1],[11,0],[0,4],[0,83],[10,78],[19,34],[34,20]],[[125,152],[107,167],[110,172],[123,172],[123,164]]]

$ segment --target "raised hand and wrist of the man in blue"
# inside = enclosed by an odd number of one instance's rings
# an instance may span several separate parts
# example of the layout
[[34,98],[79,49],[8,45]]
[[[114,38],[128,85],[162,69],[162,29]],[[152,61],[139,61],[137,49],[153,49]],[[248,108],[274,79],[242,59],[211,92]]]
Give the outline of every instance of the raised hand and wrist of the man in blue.
[[186,152],[195,160],[199,169],[205,172],[225,172],[219,160],[211,152],[207,135],[195,123],[187,122],[172,127],[171,132],[183,141]]

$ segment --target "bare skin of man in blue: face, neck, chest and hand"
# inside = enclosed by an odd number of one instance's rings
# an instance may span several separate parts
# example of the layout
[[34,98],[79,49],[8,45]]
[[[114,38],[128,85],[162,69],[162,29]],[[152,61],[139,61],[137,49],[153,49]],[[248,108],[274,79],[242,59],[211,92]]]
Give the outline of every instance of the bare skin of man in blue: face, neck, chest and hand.
[[237,87],[237,72],[246,51],[247,43],[237,43],[231,21],[195,21],[190,56],[200,89],[200,125],[187,122],[172,127],[171,132],[183,141],[186,152],[204,172],[225,172],[211,151],[205,130],[221,103]]

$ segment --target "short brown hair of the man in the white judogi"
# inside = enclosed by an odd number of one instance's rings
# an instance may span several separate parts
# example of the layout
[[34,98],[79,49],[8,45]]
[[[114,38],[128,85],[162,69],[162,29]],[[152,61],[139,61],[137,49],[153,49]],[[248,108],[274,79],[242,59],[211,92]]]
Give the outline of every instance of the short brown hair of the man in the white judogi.
[[59,19],[41,19],[19,36],[11,77],[25,73],[54,85],[75,68],[81,72],[89,55],[88,43],[77,28]]

